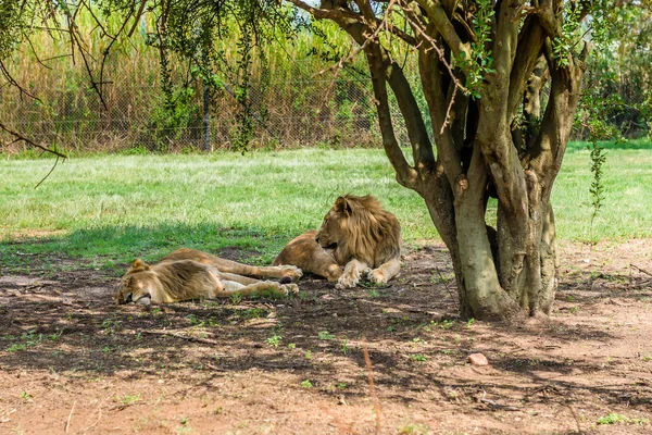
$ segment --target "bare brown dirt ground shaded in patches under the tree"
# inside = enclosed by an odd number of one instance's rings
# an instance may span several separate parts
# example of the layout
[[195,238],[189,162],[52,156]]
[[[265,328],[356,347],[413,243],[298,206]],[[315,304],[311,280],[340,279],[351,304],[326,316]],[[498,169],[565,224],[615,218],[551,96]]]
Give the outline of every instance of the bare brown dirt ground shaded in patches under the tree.
[[386,288],[153,309],[97,271],[3,274],[0,433],[650,434],[652,240],[562,248],[527,324],[457,319],[442,246]]

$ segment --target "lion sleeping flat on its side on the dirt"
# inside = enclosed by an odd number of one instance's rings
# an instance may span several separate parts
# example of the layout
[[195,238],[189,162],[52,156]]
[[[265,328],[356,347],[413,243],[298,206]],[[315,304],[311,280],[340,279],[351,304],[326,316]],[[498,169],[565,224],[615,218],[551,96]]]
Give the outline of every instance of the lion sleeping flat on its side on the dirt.
[[[251,277],[275,277],[280,283]],[[164,257],[158,264],[134,261],[122,277],[115,294],[117,303],[170,303],[190,299],[212,299],[231,295],[298,293],[292,279],[301,277],[293,265],[258,268],[225,260],[210,253],[181,248]]]

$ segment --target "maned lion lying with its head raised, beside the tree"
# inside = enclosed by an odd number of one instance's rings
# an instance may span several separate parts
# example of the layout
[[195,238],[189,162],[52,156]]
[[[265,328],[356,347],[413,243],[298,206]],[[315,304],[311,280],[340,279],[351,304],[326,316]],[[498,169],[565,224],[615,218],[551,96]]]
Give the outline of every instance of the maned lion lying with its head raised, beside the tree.
[[342,289],[355,287],[363,273],[372,283],[387,283],[399,273],[400,258],[397,216],[369,195],[346,195],[337,198],[318,232],[291,240],[272,264],[296,265]]

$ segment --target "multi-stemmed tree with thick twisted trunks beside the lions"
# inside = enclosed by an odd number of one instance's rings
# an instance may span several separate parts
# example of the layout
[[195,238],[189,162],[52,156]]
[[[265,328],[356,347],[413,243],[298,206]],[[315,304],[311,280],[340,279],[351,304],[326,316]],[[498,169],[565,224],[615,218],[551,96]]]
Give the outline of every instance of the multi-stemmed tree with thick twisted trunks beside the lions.
[[[422,196],[450,250],[461,314],[550,313],[557,285],[550,194],[585,72],[580,23],[590,13],[601,23],[599,9],[563,0],[290,2],[337,23],[364,52],[383,146],[397,181]],[[429,120],[391,55],[391,40],[418,57]],[[414,164],[394,136],[390,91]],[[496,228],[487,223],[490,197],[498,198]]]

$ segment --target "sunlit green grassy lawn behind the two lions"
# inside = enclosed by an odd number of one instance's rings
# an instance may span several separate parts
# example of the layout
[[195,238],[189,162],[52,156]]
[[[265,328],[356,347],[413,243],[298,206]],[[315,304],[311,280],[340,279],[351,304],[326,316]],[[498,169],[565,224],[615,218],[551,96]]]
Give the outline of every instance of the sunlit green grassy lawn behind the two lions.
[[[553,191],[561,238],[652,236],[652,145],[607,149],[606,199],[591,228],[589,152],[570,144]],[[237,248],[250,252],[242,260],[266,263],[288,239],[318,227],[347,192],[377,196],[401,220],[409,244],[438,238],[422,199],[398,185],[381,150],[78,157],[35,189],[51,165],[0,162],[5,266],[57,269],[59,261],[47,258],[72,258],[122,271],[135,257],[154,261],[181,246]]]

